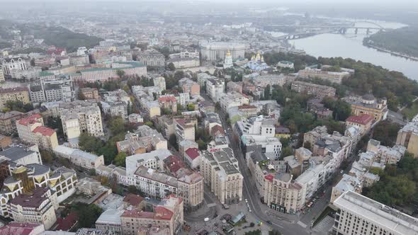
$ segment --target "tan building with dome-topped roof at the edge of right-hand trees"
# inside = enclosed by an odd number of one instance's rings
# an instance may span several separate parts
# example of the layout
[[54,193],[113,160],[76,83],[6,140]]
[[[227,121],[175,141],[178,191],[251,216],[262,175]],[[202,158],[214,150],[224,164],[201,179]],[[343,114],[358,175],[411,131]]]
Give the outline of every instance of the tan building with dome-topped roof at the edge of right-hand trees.
[[375,122],[386,120],[388,117],[388,101],[386,98],[376,99],[371,94],[362,97],[346,97],[344,101],[351,104],[352,115],[371,115]]

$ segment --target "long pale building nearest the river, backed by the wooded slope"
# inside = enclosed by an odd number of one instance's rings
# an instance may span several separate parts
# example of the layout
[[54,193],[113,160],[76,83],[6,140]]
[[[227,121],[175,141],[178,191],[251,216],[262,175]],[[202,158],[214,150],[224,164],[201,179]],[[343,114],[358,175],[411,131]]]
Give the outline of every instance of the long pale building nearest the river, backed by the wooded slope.
[[350,75],[348,71],[323,71],[322,69],[311,69],[310,67],[298,71],[298,77],[302,79],[318,78],[335,84],[341,84],[342,79],[349,78]]

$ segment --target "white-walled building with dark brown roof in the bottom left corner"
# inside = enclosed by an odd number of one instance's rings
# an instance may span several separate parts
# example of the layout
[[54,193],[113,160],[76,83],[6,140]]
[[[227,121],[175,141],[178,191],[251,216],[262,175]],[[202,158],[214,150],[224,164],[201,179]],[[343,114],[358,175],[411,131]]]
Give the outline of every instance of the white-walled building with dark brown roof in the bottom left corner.
[[50,229],[57,221],[50,197],[51,190],[45,188],[35,188],[32,195],[18,195],[10,201],[10,216],[15,222],[35,222]]

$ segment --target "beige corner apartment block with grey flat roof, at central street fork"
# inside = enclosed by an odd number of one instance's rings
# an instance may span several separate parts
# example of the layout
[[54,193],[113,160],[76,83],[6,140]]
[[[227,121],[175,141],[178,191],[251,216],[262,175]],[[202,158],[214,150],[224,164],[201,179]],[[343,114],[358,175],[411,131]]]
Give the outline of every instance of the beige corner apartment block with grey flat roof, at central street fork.
[[203,151],[200,173],[222,204],[238,203],[242,200],[243,177],[232,149]]

